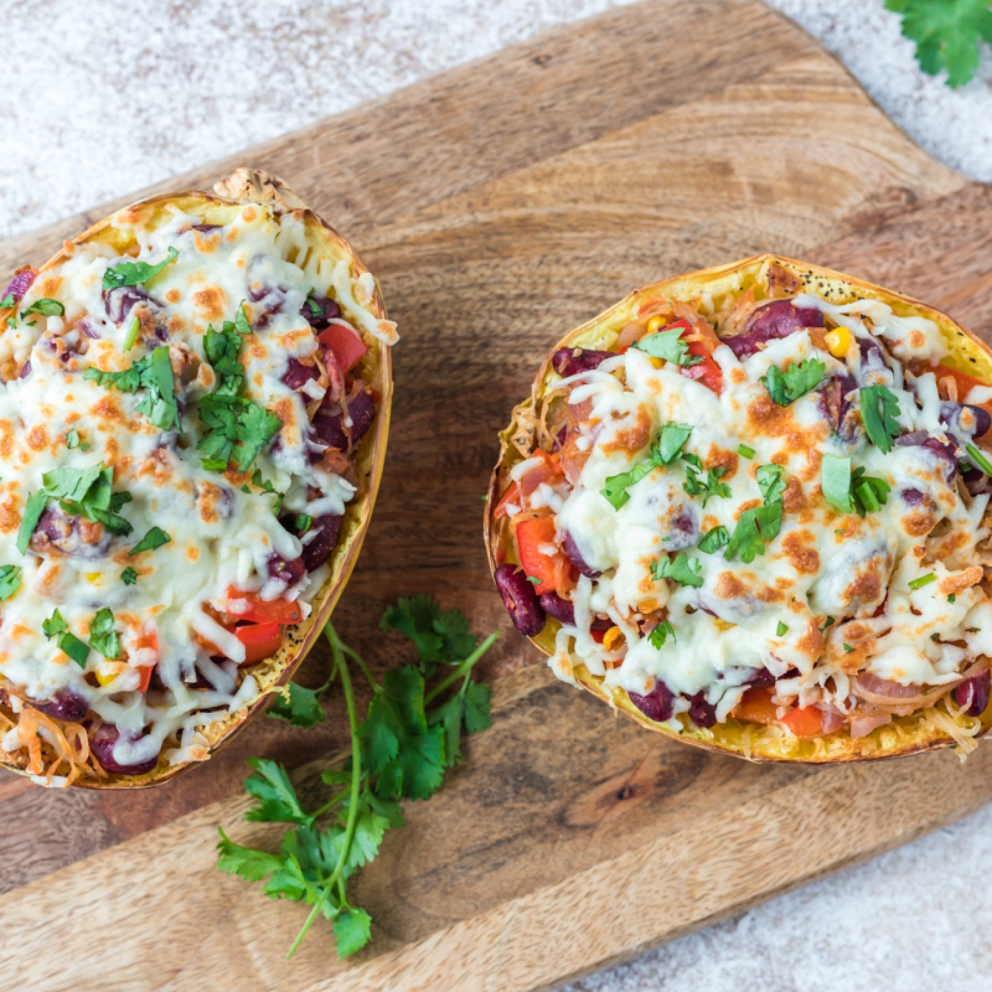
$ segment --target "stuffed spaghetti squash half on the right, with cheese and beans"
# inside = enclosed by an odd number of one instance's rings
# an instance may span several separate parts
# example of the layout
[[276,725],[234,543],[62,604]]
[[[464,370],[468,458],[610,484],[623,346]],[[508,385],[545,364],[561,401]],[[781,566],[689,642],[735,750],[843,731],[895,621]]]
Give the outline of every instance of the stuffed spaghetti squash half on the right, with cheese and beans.
[[681,740],[841,762],[992,723],[992,357],[761,256],[565,336],[502,434],[486,545],[558,678]]

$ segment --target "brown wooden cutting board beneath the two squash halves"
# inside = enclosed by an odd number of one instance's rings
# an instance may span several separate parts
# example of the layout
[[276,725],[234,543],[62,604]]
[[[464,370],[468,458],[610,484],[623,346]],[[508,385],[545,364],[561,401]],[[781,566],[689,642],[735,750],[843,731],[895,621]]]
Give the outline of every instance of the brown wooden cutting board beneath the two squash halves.
[[[377,668],[383,607],[425,591],[503,636],[494,726],[408,807],[355,898],[347,965],[304,908],[214,867],[252,754],[305,790],[339,700],[261,719],[136,796],[0,777],[0,974],[41,989],[532,989],[638,953],[992,799],[992,747],[871,767],[760,767],[658,739],[557,682],[513,632],[483,552],[496,433],[560,334],[639,284],[761,251],[915,294],[992,332],[992,194],[923,154],[846,71],[750,0],[653,0],[564,28],[215,163],[283,176],[353,241],[400,324],[379,506],[334,622]],[[133,194],[128,199],[136,198]],[[124,202],[122,199],[119,202]],[[101,207],[0,245],[45,260]],[[319,649],[302,671],[326,671]]]

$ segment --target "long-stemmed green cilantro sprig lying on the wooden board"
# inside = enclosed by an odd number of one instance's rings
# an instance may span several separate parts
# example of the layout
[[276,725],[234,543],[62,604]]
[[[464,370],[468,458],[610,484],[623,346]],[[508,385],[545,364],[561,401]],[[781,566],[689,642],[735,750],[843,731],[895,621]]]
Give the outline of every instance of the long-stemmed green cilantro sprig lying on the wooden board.
[[[460,613],[442,613],[427,596],[401,599],[386,611],[382,626],[400,630],[413,640],[417,664],[390,669],[380,683],[327,624],[330,678],[317,689],[292,682],[289,700],[277,700],[269,710],[270,716],[313,726],[323,719],[320,694],[334,680],[340,681],[351,731],[351,757],[342,770],[323,772],[323,782],[334,790],[330,799],[308,810],[282,765],[252,759],[249,764],[255,773],[245,780],[245,789],[255,806],[245,818],[289,823],[291,828],[277,853],[237,844],[220,830],[217,867],[221,871],[249,882],[264,881],[263,892],[271,899],[290,899],[311,907],[287,957],[294,955],[321,915],[331,922],[339,957],[353,954],[368,942],[372,921],[348,901],[348,879],[376,857],[388,829],[403,825],[399,801],[427,799],[440,787],[444,770],[460,760],[462,729],[474,733],[489,726],[490,690],[474,682],[471,675],[495,634],[479,644]],[[372,689],[362,722],[349,660]],[[426,680],[440,664],[451,671],[429,689]],[[321,827],[321,821],[329,822]]]

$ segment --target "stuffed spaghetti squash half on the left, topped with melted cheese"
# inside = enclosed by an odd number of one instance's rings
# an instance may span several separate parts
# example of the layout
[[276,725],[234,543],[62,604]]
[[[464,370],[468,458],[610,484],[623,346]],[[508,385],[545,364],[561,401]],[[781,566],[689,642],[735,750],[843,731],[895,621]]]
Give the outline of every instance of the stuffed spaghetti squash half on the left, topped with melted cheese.
[[282,181],[120,210],[0,299],[0,764],[149,786],[289,681],[386,450],[396,327]]

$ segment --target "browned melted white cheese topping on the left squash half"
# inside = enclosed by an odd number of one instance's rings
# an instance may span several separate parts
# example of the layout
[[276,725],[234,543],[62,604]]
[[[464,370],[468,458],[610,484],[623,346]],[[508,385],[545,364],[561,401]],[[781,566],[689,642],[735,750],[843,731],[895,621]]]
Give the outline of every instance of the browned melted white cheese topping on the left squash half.
[[[135,259],[122,260],[97,242],[75,247],[42,272],[19,307],[52,298],[62,303],[62,316],[20,318],[0,336],[0,362],[13,359],[22,368],[20,378],[0,388],[0,564],[22,569],[21,587],[0,606],[0,686],[15,699],[41,703],[65,692],[81,696],[120,731],[113,754],[122,765],[154,758],[170,735],[180,738],[167,752],[172,763],[204,758],[198,728],[257,698],[255,680],[238,673],[243,645],[204,612],[205,605],[226,609],[227,590],[236,586],[264,600],[297,599],[306,616],[310,596],[327,575],[321,566],[288,586],[271,574],[271,558],[300,558],[302,545],[277,519],[274,496],[249,484],[258,469],[282,494],[283,513],[312,516],[343,514],[355,494],[346,479],[310,463],[310,452],[322,448],[308,439],[305,404],[318,400],[323,388],[311,382],[304,396],[283,381],[292,358],[319,360],[315,333],[301,315],[308,295],[337,299],[351,323],[373,333],[391,330],[395,337],[393,325],[383,328],[387,322],[365,306],[369,287],[352,280],[348,263],[307,249],[299,217],[280,218],[249,205],[224,227],[196,230],[198,217],[171,209],[172,219],[155,230],[129,223],[126,212],[117,218],[116,226],[137,238],[137,261],[156,264],[169,248],[179,252],[144,287],[154,304],[134,311],[142,334],[131,350],[124,345],[132,317],[112,319],[102,281],[108,268]],[[276,413],[283,427],[248,472],[220,473],[205,468],[196,449],[205,431],[197,401],[216,382],[203,340],[211,324],[219,330],[233,321],[242,303],[253,327],[238,356],[245,370],[242,395]],[[182,434],[136,413],[141,391],[132,395],[83,377],[89,367],[126,369],[164,341],[176,373]],[[71,449],[70,432],[79,441]],[[113,467],[114,491],[131,494],[120,511],[133,527],[130,536],[87,531],[84,521],[67,553],[21,554],[22,515],[29,496],[43,488],[45,473],[101,463]],[[170,542],[129,555],[153,527]],[[122,581],[128,567],[137,572],[130,585]],[[80,667],[43,633],[44,621],[58,609],[69,631],[87,641],[102,607],[113,613],[123,649],[119,660],[90,650]],[[211,646],[232,661],[211,661],[218,653]],[[139,691],[147,667],[156,663],[165,689]],[[16,731],[3,741],[7,750],[20,746]]]

